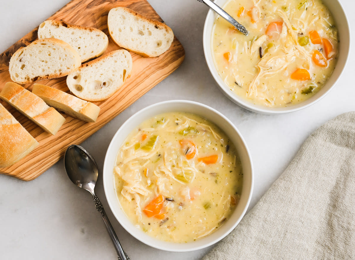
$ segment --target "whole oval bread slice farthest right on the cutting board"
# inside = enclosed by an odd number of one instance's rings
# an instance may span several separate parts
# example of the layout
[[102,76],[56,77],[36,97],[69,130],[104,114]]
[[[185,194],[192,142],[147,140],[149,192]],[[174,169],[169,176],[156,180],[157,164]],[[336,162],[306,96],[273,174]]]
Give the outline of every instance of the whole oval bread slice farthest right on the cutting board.
[[107,25],[110,36],[117,45],[143,57],[163,54],[174,40],[169,26],[126,7],[111,9]]

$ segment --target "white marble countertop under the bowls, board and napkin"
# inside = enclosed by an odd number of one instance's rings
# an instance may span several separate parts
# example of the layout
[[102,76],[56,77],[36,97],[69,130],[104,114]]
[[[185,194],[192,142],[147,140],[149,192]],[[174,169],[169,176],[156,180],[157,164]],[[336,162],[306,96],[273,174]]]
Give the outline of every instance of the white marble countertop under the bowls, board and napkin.
[[[0,0],[0,53],[67,1]],[[195,0],[149,2],[185,47],[186,58],[172,75],[82,143],[100,168],[111,137],[133,113],[168,99],[201,102],[225,114],[239,128],[250,148],[255,168],[250,204],[253,207],[311,132],[336,115],[355,109],[354,52],[351,52],[349,64],[337,86],[309,108],[292,114],[268,116],[238,107],[215,86],[204,60],[202,29],[207,7]],[[345,10],[355,10],[354,1],[342,0],[342,3]],[[354,15],[349,20],[354,29]],[[172,253],[142,244],[113,217],[105,199],[101,176],[96,193],[132,260],[200,259],[209,250]],[[0,258],[105,260],[116,259],[116,253],[91,195],[70,182],[61,160],[31,182],[0,176]]]

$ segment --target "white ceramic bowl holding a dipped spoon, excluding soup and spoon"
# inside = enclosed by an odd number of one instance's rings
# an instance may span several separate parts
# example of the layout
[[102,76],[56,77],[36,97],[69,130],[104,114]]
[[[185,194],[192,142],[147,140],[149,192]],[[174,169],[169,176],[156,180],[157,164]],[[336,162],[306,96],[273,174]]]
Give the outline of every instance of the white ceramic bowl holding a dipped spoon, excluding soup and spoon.
[[[223,7],[227,1],[215,0],[214,2],[217,5]],[[299,104],[290,107],[285,107],[285,108],[272,108],[272,107],[264,107],[261,105],[255,105],[251,102],[248,102],[246,99],[238,96],[234,92],[232,92],[229,89],[229,87],[224,83],[224,81],[219,76],[218,71],[214,65],[212,48],[211,48],[212,28],[213,28],[214,20],[217,17],[217,15],[212,10],[209,10],[206,17],[206,21],[204,23],[204,29],[203,29],[203,49],[204,49],[204,55],[207,61],[208,68],[211,71],[211,74],[214,80],[217,82],[220,90],[234,103],[250,111],[256,113],[262,113],[262,114],[284,114],[284,113],[294,112],[306,108],[316,103],[324,96],[326,96],[326,94],[329,91],[331,91],[331,89],[337,83],[348,61],[349,54],[350,54],[350,27],[349,27],[348,18],[346,17],[343,6],[340,4],[339,0],[323,0],[323,3],[331,11],[339,32],[340,43],[339,43],[339,57],[338,57],[337,65],[335,66],[335,70],[333,71],[333,74],[329,77],[327,83],[314,96],[312,96],[311,98],[307,99],[304,102],[301,102]]]

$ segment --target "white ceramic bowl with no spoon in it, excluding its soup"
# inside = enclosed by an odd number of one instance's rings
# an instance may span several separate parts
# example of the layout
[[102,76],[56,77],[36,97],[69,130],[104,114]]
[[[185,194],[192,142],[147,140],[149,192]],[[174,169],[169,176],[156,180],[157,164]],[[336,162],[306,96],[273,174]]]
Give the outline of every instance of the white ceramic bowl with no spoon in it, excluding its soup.
[[[123,212],[121,205],[116,197],[114,189],[114,177],[113,169],[115,166],[116,155],[130,132],[135,129],[143,121],[166,112],[188,112],[196,115],[200,115],[203,118],[215,123],[222,129],[226,135],[229,137],[230,141],[234,143],[236,150],[239,154],[240,161],[242,164],[243,171],[243,186],[242,193],[240,196],[240,202],[236,206],[231,217],[215,232],[207,235],[204,238],[198,239],[194,242],[188,243],[172,243],[164,242],[155,238],[150,237],[137,227],[135,227],[132,222],[127,218]],[[192,251],[207,247],[218,242],[220,239],[224,238],[228,233],[230,233],[235,226],[239,223],[241,218],[244,216],[245,211],[249,205],[252,189],[253,189],[253,168],[250,158],[248,148],[245,144],[244,139],[240,135],[240,132],[236,127],[229,121],[224,115],[219,113],[217,110],[203,105],[201,103],[196,103],[192,101],[183,100],[173,100],[157,103],[146,107],[136,114],[132,115],[116,132],[114,135],[104,162],[103,169],[103,182],[105,195],[108,204],[113,212],[114,216],[120,222],[121,226],[124,227],[127,232],[129,232],[133,237],[137,238],[141,242],[150,245],[151,247],[167,250],[167,251]],[[180,227],[184,228],[184,227]]]

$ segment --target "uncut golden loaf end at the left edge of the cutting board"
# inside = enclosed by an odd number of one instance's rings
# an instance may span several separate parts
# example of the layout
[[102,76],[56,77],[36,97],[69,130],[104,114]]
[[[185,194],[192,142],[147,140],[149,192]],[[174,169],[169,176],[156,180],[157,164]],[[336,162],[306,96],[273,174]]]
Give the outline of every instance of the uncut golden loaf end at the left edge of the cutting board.
[[0,168],[20,161],[38,146],[38,142],[1,104],[0,140]]

